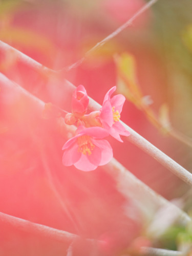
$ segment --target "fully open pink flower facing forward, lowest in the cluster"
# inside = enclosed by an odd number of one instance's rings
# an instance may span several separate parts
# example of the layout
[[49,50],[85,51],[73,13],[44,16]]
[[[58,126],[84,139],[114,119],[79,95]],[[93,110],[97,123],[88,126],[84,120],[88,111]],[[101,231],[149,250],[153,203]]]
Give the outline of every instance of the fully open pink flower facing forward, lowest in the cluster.
[[103,138],[108,136],[108,131],[101,127],[84,128],[79,126],[77,135],[63,145],[65,150],[62,156],[63,165],[73,165],[80,170],[88,172],[98,165],[108,163],[113,157],[110,143]]

